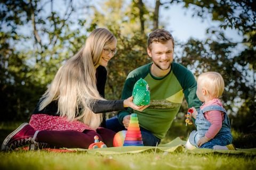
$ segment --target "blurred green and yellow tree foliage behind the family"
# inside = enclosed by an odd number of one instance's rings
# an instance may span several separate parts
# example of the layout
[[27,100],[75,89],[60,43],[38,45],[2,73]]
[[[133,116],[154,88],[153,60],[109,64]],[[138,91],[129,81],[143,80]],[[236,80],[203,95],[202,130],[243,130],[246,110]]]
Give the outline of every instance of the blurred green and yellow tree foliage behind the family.
[[[205,40],[175,42],[180,49],[175,61],[195,75],[220,72],[226,83],[222,100],[232,126],[242,132],[255,131],[255,1],[155,2],[159,10],[178,3],[192,9],[194,17],[218,21],[218,27],[207,29]],[[139,0],[0,1],[0,106],[5,115],[1,120],[27,121],[59,67],[98,27],[108,28],[118,39],[118,53],[108,64],[106,98],[119,99],[127,74],[151,62],[147,35],[161,23],[156,24],[157,11]],[[228,28],[238,30],[243,40],[227,38],[223,30]],[[186,111],[184,101],[180,112]]]

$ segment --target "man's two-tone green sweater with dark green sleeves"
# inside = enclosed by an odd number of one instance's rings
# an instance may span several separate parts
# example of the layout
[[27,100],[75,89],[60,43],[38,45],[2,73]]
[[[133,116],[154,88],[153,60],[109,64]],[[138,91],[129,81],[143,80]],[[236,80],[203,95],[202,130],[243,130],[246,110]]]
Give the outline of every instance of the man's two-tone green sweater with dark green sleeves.
[[142,78],[150,88],[150,106],[142,112],[131,109],[121,111],[118,113],[118,120],[123,124],[124,116],[137,113],[140,126],[163,139],[179,112],[183,97],[185,96],[188,107],[199,108],[201,101],[196,96],[194,75],[186,67],[172,63],[170,72],[157,78],[150,73],[151,65],[149,63],[130,72],[122,92],[122,99],[132,96],[135,82]]

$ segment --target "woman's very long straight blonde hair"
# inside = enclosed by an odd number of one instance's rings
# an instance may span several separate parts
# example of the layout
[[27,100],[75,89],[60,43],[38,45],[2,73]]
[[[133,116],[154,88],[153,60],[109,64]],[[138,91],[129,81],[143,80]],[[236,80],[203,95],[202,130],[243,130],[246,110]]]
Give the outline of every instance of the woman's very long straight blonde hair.
[[[114,35],[104,28],[91,32],[85,46],[60,67],[50,87],[42,96],[41,111],[53,100],[58,100],[58,113],[69,121],[79,120],[97,129],[102,114],[94,114],[91,106],[100,96],[96,85],[96,68],[99,66],[103,48],[114,43]],[[78,113],[80,111],[80,113]]]

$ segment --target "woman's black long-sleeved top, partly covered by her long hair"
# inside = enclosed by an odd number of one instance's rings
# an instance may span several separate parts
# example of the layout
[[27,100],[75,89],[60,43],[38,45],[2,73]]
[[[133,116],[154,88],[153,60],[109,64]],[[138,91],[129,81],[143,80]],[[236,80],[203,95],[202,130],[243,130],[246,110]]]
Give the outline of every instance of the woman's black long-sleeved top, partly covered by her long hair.
[[[105,85],[107,80],[107,70],[103,66],[99,66],[96,70],[96,79],[97,79],[97,89],[99,94],[104,98],[105,97]],[[59,116],[58,111],[58,101],[52,101],[47,105],[42,111],[39,111],[39,104],[41,101],[38,101],[35,111],[33,114],[47,114],[52,116]],[[91,106],[92,112],[94,113],[103,113],[103,121],[101,123],[102,127],[106,127],[106,112],[122,111],[124,110],[124,100],[96,100]]]

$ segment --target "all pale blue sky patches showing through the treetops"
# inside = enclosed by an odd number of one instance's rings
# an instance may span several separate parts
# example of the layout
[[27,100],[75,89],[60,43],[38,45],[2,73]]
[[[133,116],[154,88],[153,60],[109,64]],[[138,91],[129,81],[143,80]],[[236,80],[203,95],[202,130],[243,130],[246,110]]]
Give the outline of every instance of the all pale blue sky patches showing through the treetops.
[[[73,1],[75,6],[81,4],[83,0]],[[125,0],[126,4],[130,4],[131,0]],[[54,10],[63,13],[66,11],[67,2],[63,4],[63,1],[53,1]],[[65,1],[64,1],[65,2]],[[90,2],[90,4],[101,4],[100,0],[95,0]],[[155,1],[152,0],[144,0],[143,1],[146,6],[149,6],[154,9]],[[82,3],[83,4],[83,3]],[[50,12],[50,3],[47,3],[46,13]],[[205,20],[195,16],[192,17],[193,11],[190,8],[183,8],[182,4],[172,4],[170,8],[167,10],[162,6],[159,10],[159,24],[165,25],[165,29],[170,31],[174,37],[175,41],[179,41],[181,43],[186,43],[189,38],[195,38],[199,40],[204,40],[206,38],[206,29],[210,26],[214,25],[217,27],[219,22],[211,21],[211,15]],[[75,17],[75,19],[77,19]],[[22,32],[27,32],[28,29],[20,30]],[[225,31],[227,37],[232,38],[234,42],[242,41],[243,37],[238,35],[236,30],[227,29]],[[242,47],[241,47],[242,48]]]

